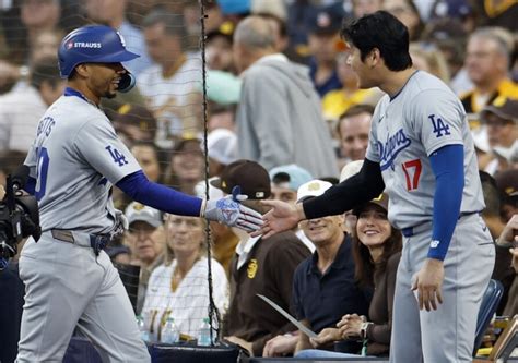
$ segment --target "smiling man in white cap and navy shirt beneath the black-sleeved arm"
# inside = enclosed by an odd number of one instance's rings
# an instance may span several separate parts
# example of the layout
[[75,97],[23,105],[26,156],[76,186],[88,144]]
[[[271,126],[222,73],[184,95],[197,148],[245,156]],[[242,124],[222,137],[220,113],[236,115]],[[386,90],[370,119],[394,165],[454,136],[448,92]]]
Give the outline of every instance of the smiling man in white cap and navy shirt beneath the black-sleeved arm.
[[[322,195],[331,186],[326,181],[310,180],[298,187],[297,202]],[[316,251],[298,265],[293,278],[292,299],[296,318],[317,332],[334,327],[345,314],[367,314],[370,291],[365,294],[354,282],[352,241],[343,232],[343,215],[299,223]],[[281,341],[285,342],[282,347],[291,349],[280,350]],[[308,348],[313,348],[309,338],[299,331],[296,336],[278,336],[269,341],[264,355],[294,353]],[[351,342],[343,349],[355,353],[360,347]]]

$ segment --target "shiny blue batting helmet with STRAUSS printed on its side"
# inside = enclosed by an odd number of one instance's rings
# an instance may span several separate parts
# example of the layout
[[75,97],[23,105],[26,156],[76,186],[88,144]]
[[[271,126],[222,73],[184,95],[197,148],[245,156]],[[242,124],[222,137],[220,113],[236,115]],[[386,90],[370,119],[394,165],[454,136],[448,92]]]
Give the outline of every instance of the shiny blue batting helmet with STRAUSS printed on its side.
[[122,36],[105,25],[87,25],[70,32],[59,46],[59,72],[67,78],[81,63],[120,63],[140,57],[126,50]]

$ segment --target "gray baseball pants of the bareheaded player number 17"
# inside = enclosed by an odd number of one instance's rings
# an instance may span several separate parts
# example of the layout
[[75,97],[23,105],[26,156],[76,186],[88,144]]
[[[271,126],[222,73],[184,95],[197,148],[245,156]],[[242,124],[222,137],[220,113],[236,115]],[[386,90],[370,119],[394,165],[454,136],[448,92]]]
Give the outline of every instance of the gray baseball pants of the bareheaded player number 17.
[[403,238],[393,301],[390,362],[471,363],[476,317],[493,273],[495,246],[482,217],[458,220],[444,261],[443,304],[436,311],[419,310],[412,281],[421,269],[432,223]]

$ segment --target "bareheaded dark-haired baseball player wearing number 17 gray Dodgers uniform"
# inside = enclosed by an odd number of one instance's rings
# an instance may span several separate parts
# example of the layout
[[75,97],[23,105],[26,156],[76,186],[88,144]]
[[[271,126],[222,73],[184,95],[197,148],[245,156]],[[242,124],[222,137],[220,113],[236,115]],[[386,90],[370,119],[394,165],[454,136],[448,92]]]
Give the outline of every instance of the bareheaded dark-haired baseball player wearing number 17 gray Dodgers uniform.
[[[337,215],[381,191],[404,235],[393,302],[390,361],[471,362],[476,316],[494,265],[466,112],[442,81],[412,69],[408,29],[379,11],[344,25],[361,88],[387,93],[376,107],[362,170],[296,207],[264,204],[269,235]],[[366,327],[368,329],[368,327]]]

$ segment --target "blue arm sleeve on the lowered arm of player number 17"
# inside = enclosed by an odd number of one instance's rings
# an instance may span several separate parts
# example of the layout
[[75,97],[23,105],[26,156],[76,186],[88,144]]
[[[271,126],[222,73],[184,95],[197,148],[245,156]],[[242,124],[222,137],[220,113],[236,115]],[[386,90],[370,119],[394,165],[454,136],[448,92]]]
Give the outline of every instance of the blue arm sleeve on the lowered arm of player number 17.
[[443,261],[459,219],[464,187],[464,150],[448,145],[434,152],[429,161],[435,176],[434,215],[428,258]]

